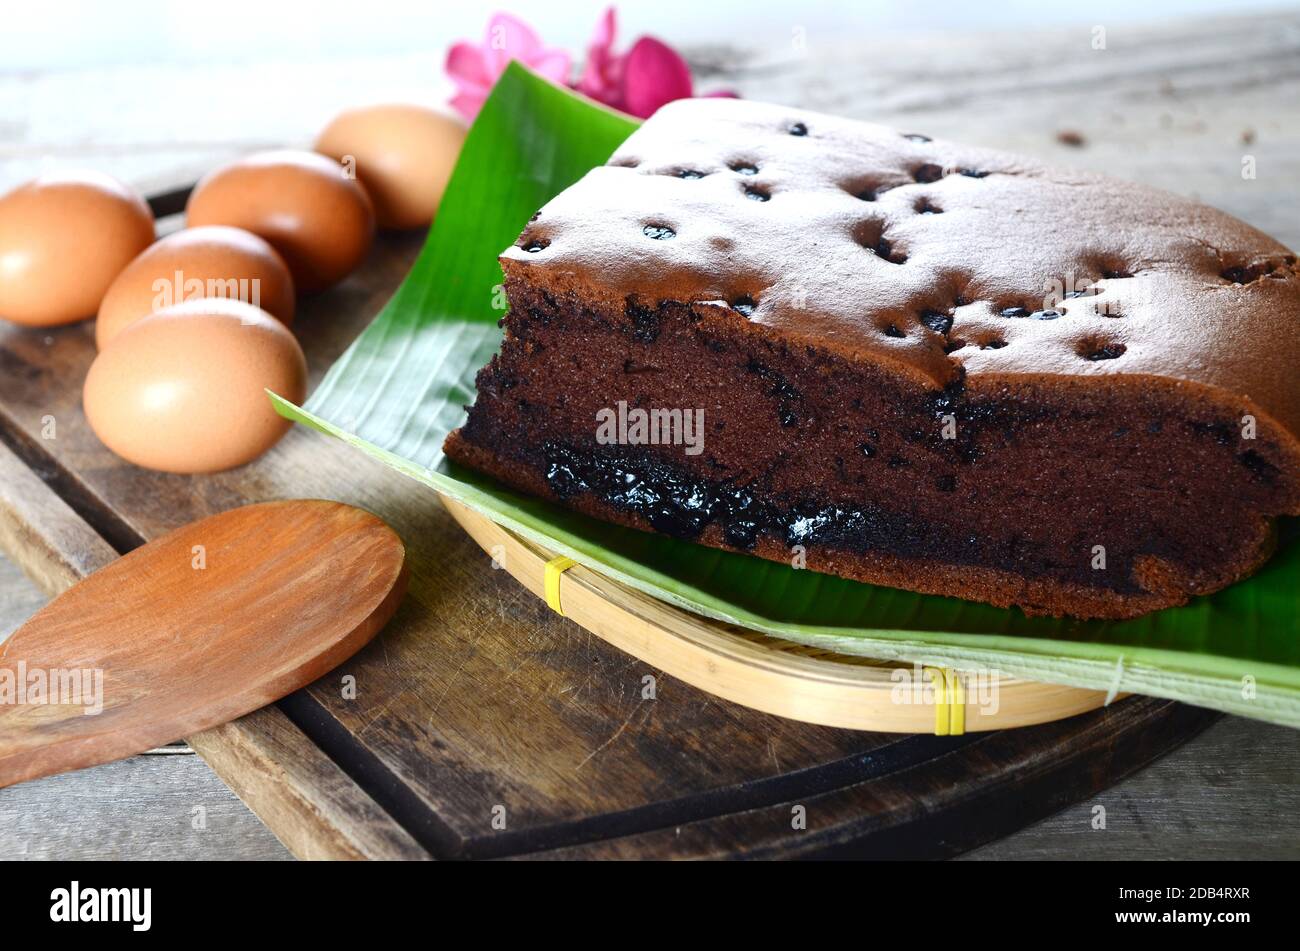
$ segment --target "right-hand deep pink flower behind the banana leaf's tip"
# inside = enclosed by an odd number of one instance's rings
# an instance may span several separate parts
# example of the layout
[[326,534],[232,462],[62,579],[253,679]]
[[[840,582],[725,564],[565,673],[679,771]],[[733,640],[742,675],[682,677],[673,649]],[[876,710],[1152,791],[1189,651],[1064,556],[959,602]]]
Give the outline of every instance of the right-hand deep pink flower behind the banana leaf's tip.
[[675,49],[653,36],[642,36],[625,56],[618,56],[615,32],[615,13],[610,6],[586,48],[586,65],[575,86],[578,92],[641,118],[649,118],[664,103],[694,95],[690,68]]

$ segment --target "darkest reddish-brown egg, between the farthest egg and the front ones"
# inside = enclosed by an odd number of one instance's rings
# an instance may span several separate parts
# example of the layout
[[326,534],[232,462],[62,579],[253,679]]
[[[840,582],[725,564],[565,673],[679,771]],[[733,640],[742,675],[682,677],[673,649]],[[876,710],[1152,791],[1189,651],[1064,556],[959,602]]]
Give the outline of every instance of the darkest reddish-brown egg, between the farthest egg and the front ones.
[[217,169],[185,213],[190,227],[231,225],[265,238],[300,292],[342,281],[374,240],[365,188],[315,152],[260,152]]

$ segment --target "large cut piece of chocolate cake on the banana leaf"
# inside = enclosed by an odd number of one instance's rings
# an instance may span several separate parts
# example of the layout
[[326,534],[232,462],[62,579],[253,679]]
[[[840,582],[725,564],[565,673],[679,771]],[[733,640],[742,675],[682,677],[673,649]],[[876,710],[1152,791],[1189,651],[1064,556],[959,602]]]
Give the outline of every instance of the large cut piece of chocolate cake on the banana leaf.
[[502,264],[446,452],[597,518],[1118,618],[1244,577],[1300,513],[1296,256],[1174,195],[686,100]]

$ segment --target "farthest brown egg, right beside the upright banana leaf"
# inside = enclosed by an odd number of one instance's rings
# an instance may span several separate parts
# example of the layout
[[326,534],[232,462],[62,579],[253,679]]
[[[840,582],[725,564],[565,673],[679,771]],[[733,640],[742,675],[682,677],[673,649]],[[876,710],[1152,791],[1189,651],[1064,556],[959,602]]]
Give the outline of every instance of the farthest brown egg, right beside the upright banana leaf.
[[400,230],[433,221],[464,140],[458,117],[422,105],[372,105],[339,113],[316,151],[354,161],[380,227]]

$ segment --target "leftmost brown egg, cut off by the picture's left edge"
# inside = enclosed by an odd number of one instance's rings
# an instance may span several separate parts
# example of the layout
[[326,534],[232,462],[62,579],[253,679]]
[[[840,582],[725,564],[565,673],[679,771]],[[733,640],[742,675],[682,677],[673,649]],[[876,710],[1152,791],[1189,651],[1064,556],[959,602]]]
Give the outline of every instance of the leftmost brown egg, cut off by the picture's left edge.
[[0,197],[0,317],[32,327],[92,317],[153,240],[153,213],[116,178],[56,171]]

